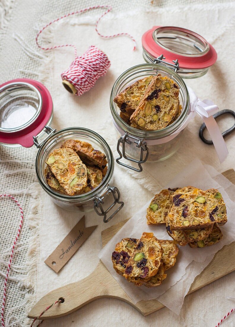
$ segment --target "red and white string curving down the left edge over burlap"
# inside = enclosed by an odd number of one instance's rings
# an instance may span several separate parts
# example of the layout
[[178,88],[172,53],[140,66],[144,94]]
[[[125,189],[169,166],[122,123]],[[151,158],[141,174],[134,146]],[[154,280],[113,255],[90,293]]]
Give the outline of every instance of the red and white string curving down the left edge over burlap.
[[19,207],[20,213],[21,213],[20,226],[19,226],[19,229],[17,231],[17,235],[15,237],[14,243],[12,245],[11,255],[10,255],[10,259],[9,259],[9,263],[8,263],[8,268],[7,268],[7,273],[6,273],[6,278],[5,278],[5,282],[4,282],[4,288],[3,288],[3,301],[2,301],[2,309],[1,309],[1,322],[2,322],[2,327],[5,327],[5,324],[4,324],[4,309],[5,309],[5,303],[6,303],[6,289],[7,289],[8,275],[9,275],[9,271],[10,271],[10,267],[11,267],[11,262],[12,262],[12,258],[13,258],[13,253],[14,253],[15,245],[16,245],[16,242],[17,242],[17,240],[19,238],[19,235],[20,235],[20,232],[21,232],[21,229],[22,229],[24,215],[23,215],[23,210],[22,210],[22,207],[21,207],[20,203],[12,195],[9,195],[9,194],[0,194],[0,198],[10,198],[10,199],[12,199],[17,204],[17,206]]

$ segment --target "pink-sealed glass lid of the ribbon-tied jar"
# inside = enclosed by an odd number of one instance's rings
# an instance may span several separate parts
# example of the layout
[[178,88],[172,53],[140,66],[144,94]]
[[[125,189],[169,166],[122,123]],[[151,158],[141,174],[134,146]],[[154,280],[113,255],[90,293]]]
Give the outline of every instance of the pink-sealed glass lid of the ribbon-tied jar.
[[162,54],[168,62],[178,59],[180,69],[205,69],[217,59],[210,43],[199,34],[181,27],[153,26],[143,34],[142,46],[152,60]]

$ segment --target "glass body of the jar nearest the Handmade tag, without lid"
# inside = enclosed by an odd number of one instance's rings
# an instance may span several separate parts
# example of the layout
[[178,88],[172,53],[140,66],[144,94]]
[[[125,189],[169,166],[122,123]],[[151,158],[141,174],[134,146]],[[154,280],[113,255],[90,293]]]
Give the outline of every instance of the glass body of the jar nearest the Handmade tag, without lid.
[[[104,153],[106,156],[108,167],[107,173],[104,176],[102,182],[95,189],[88,193],[75,196],[60,194],[50,188],[46,182],[44,170],[46,168],[46,160],[48,158],[48,155],[54,149],[59,148],[62,143],[68,139],[75,139],[88,142],[96,150],[102,151],[102,153]],[[36,157],[36,174],[43,190],[52,198],[56,205],[69,211],[85,213],[95,209],[94,207],[99,208],[100,203],[103,204],[105,202],[105,205],[107,205],[112,200],[110,193],[114,195],[117,190],[115,187],[111,186],[113,171],[113,154],[106,141],[99,134],[89,129],[79,127],[62,129],[53,133],[52,135],[49,135],[49,137],[47,137],[40,145],[39,152]],[[108,197],[107,200],[105,200],[106,197]],[[99,202],[100,200],[102,200],[102,202]],[[116,201],[116,203],[120,202]],[[99,214],[99,210],[97,211],[97,213],[98,215],[102,215]]]

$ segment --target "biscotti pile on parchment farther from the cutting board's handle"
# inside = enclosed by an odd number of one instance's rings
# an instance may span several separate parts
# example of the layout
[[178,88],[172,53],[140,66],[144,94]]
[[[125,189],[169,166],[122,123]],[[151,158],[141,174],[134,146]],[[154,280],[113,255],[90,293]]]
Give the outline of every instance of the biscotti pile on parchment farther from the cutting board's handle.
[[193,186],[165,189],[156,194],[147,209],[147,223],[166,225],[179,245],[203,248],[221,240],[218,225],[227,222],[226,205],[216,189],[203,191]]

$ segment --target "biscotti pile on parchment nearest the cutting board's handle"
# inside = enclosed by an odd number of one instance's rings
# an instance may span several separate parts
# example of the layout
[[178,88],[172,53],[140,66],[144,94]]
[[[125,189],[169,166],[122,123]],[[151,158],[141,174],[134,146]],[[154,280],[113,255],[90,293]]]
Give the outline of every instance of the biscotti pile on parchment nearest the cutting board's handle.
[[146,287],[162,284],[165,271],[173,267],[179,249],[174,241],[158,240],[144,232],[140,239],[123,238],[112,253],[113,267],[129,282]]

